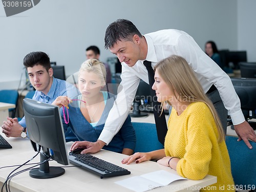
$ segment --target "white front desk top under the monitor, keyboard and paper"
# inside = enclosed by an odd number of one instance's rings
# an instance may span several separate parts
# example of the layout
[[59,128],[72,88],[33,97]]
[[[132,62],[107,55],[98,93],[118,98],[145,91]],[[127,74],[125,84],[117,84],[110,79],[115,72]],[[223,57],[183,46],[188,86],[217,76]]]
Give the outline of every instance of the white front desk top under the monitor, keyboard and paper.
[[[2,134],[2,133],[1,133]],[[5,137],[6,138],[6,137]],[[1,161],[0,167],[7,165],[22,164],[35,155],[32,150],[30,141],[22,138],[6,138],[6,140],[12,145],[11,149],[0,149]],[[67,150],[69,151],[71,143],[67,143]],[[142,175],[149,172],[154,172],[159,169],[167,170],[171,173],[176,173],[175,170],[169,167],[162,166],[156,162],[146,161],[143,163],[132,163],[130,165],[121,164],[121,160],[126,155],[118,154],[114,152],[101,150],[94,156],[103,160],[112,162],[121,167],[130,170],[131,175],[118,176],[112,178],[100,179],[99,176],[91,174],[86,170],[79,167],[66,167],[65,174],[51,179],[34,179],[29,176],[28,172],[24,172],[12,178],[11,191],[130,191],[132,190],[124,188],[115,181],[123,180],[129,177]],[[36,157],[31,163],[39,162],[39,157]],[[60,166],[55,161],[49,162],[50,166]],[[72,164],[71,164],[72,165]],[[5,182],[6,177],[13,170],[13,167],[0,169],[0,187]],[[175,181],[165,187],[156,188],[153,191],[194,191],[196,187],[204,187],[217,182],[217,178],[214,176],[206,176],[202,180],[179,180]],[[182,190],[184,188],[184,190]],[[193,190],[194,189],[194,190]]]

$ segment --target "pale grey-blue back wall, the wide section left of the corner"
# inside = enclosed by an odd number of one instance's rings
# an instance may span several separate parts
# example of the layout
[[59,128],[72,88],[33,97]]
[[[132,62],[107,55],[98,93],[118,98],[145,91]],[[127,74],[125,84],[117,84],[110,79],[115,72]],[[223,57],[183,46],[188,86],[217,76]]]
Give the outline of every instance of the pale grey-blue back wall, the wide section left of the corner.
[[106,61],[113,55],[103,48],[105,29],[118,18],[132,20],[142,34],[167,28],[186,31],[202,49],[210,39],[219,49],[242,49],[237,18],[243,10],[237,4],[237,0],[43,0],[10,17],[0,5],[0,89],[17,89],[23,58],[32,51],[48,53],[57,65],[65,65],[67,75],[79,69],[90,45],[97,45]]

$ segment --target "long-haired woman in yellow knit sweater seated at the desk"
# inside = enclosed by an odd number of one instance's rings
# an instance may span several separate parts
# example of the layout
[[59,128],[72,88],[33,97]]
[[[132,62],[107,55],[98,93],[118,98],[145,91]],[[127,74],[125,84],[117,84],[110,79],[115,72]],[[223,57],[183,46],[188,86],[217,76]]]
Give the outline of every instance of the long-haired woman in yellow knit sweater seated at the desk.
[[210,188],[232,191],[234,183],[222,125],[193,70],[177,55],[161,60],[154,69],[152,89],[156,90],[157,100],[173,106],[164,149],[135,153],[122,163],[158,160],[188,179],[217,176],[217,183]]

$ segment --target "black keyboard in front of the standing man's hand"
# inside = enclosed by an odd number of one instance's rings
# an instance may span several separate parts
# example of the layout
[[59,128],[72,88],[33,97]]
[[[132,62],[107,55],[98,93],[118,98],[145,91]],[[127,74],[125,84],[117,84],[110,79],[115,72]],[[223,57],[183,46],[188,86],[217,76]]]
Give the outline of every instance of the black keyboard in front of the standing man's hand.
[[125,168],[112,164],[108,161],[104,161],[90,154],[73,154],[69,156],[69,160],[72,164],[80,166],[81,168],[100,176],[101,179],[105,177],[131,174],[131,172]]

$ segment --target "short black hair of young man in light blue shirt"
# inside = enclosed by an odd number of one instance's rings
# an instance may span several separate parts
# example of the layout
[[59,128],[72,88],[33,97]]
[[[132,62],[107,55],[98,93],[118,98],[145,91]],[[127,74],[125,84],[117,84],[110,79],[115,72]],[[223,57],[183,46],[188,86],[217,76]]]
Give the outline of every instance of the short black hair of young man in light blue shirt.
[[46,69],[46,71],[49,71],[51,68],[51,62],[49,56],[41,51],[37,52],[31,52],[27,54],[23,59],[23,65],[26,67],[34,67],[36,65],[41,65]]

